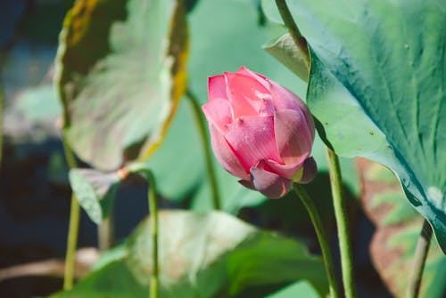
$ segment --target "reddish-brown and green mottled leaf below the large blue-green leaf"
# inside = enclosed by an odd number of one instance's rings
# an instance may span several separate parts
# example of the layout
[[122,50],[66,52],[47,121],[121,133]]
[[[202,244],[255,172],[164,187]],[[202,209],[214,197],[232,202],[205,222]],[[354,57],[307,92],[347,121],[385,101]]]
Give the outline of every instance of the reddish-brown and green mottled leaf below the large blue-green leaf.
[[[409,272],[413,254],[421,230],[422,217],[404,199],[404,193],[396,177],[381,165],[359,160],[362,173],[362,203],[370,219],[376,225],[370,252],[384,283],[396,297],[407,288],[407,278],[401,272]],[[420,297],[441,298],[446,294],[446,257],[433,239],[425,263]]]

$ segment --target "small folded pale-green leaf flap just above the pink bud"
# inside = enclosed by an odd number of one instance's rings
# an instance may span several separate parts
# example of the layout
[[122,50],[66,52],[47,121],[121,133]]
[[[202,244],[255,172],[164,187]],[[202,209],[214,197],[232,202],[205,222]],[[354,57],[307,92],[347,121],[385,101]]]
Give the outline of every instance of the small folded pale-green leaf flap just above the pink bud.
[[272,43],[263,45],[263,49],[287,68],[290,68],[303,81],[308,80],[309,74],[305,64],[305,55],[302,55],[301,50],[294,44],[293,37],[289,33],[280,36]]

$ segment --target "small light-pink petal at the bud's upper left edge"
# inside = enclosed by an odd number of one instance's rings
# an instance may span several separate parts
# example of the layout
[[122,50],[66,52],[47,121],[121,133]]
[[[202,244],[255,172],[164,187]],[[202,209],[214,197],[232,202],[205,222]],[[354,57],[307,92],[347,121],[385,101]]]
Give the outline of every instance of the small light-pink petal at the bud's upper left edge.
[[229,101],[222,98],[215,98],[202,105],[202,112],[208,122],[216,126],[220,133],[227,131],[227,125],[232,122],[231,107]]

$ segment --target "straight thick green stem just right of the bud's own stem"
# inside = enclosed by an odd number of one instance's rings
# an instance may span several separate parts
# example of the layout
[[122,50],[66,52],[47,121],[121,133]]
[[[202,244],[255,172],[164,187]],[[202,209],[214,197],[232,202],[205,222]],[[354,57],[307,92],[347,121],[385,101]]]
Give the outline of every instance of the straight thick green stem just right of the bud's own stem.
[[332,189],[335,219],[338,230],[339,247],[341,252],[341,267],[343,269],[343,289],[345,297],[356,297],[353,282],[353,264],[351,258],[351,237],[347,201],[343,197],[343,178],[339,158],[331,149],[326,148],[328,168],[330,172],[330,185]]

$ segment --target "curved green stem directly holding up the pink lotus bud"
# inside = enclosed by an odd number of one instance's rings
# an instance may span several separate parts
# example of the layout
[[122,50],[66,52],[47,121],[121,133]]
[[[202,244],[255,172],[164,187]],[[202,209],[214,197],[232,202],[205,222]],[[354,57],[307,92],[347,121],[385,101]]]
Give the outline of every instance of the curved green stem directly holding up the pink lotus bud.
[[316,230],[320,249],[322,251],[322,257],[326,266],[326,275],[328,277],[328,284],[330,286],[330,296],[332,298],[337,298],[339,297],[339,290],[335,278],[333,257],[330,253],[330,246],[328,246],[328,242],[326,240],[326,230],[324,229],[324,225],[322,224],[322,221],[320,219],[318,209],[316,208],[316,205],[314,205],[314,202],[311,200],[307,191],[303,189],[301,184],[293,183],[293,189],[296,192],[297,196],[301,198],[303,205],[305,205],[307,212],[310,214],[310,219],[313,223],[314,229]]

